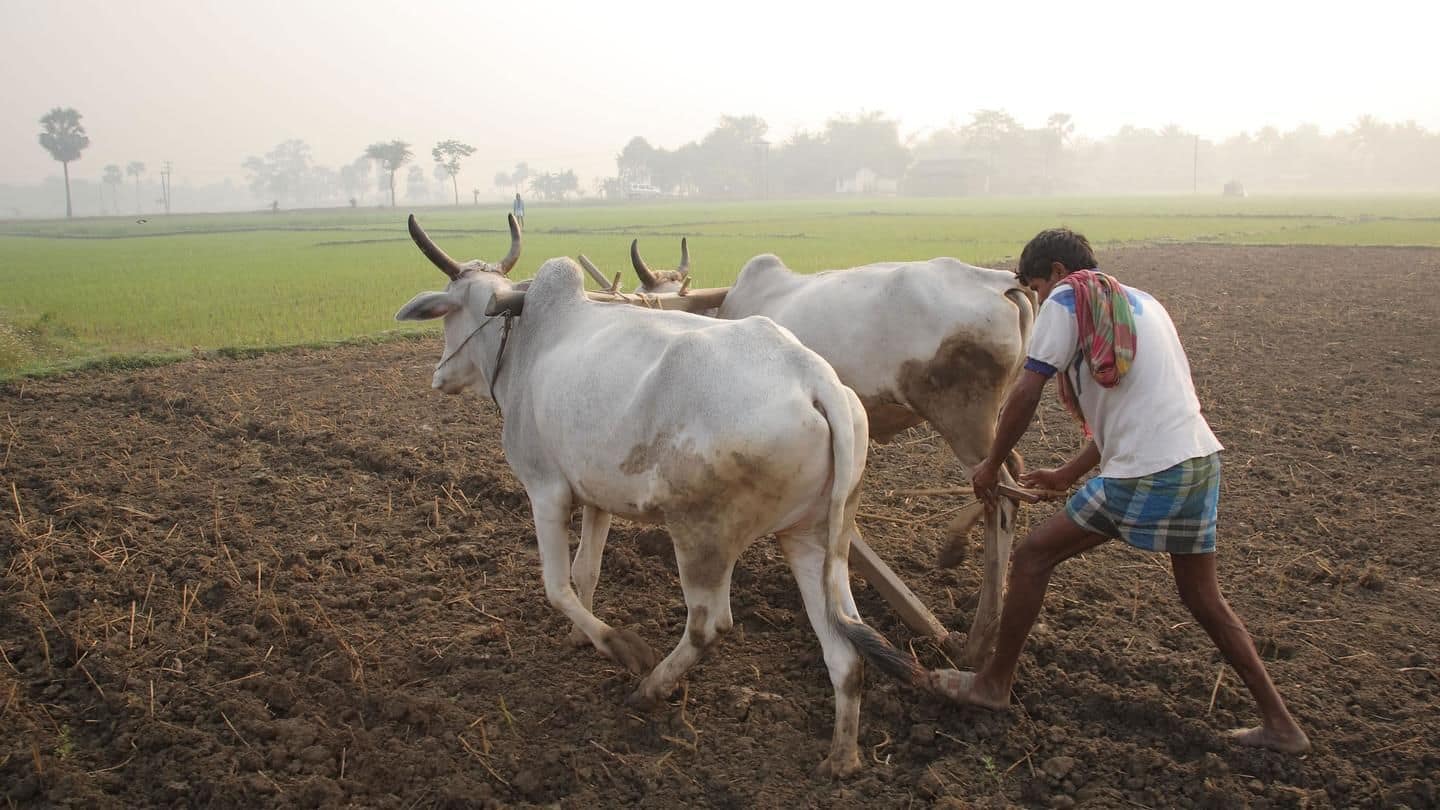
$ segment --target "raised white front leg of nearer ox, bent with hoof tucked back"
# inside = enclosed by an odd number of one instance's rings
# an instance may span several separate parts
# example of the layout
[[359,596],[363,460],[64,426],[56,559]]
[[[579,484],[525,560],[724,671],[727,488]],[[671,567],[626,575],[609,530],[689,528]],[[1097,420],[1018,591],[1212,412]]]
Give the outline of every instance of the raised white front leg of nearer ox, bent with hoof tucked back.
[[544,575],[544,595],[595,644],[595,649],[635,675],[645,675],[655,666],[655,651],[634,631],[615,628],[600,621],[570,585],[570,499],[537,499],[530,509],[536,517],[536,539],[540,543],[540,569]]

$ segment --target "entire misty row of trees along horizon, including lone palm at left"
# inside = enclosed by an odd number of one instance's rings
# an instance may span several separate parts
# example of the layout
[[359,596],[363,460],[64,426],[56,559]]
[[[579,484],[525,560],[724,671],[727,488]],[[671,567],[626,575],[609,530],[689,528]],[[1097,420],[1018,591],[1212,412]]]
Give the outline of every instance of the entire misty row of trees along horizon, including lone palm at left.
[[[60,163],[65,213],[72,216],[71,163],[91,146],[82,115],[56,107],[40,118],[40,146]],[[835,117],[818,131],[799,131],[779,143],[766,140],[769,125],[756,115],[724,115],[697,141],[662,148],[636,135],[615,156],[616,174],[596,180],[608,197],[667,193],[706,197],[822,196],[894,193],[909,196],[1050,195],[1050,193],[1178,193],[1217,192],[1238,183],[1250,190],[1284,192],[1434,192],[1440,189],[1440,133],[1414,121],[1392,124],[1361,115],[1346,128],[1325,134],[1313,124],[1289,131],[1264,127],[1224,140],[1210,140],[1178,124],[1159,130],[1120,127],[1112,135],[1076,135],[1068,114],[1050,115],[1041,127],[1025,127],[1004,110],[979,110],[963,125],[901,138],[899,121],[881,112]],[[276,144],[248,157],[251,193],[272,208],[327,205],[395,206],[396,173],[405,174],[405,199],[459,205],[462,161],[475,148],[458,140],[433,146],[428,176],[412,164],[415,153],[402,140],[376,141],[340,169],[314,163],[302,140]],[[78,179],[85,195],[99,197],[99,213],[118,213],[124,179],[134,179],[135,213],[145,210],[141,177],[145,163],[121,169],[107,164],[94,180]],[[154,209],[170,210],[168,161],[158,170]],[[48,197],[39,187],[0,186],[0,215],[22,213]],[[446,195],[445,186],[449,186]],[[575,170],[539,172],[517,163],[494,176],[494,186],[528,192],[546,200],[582,196]],[[153,186],[151,186],[153,187]],[[192,189],[192,210],[238,208],[229,180]],[[472,189],[480,202],[480,189]],[[85,205],[82,197],[81,203]],[[42,203],[52,205],[52,203]]]

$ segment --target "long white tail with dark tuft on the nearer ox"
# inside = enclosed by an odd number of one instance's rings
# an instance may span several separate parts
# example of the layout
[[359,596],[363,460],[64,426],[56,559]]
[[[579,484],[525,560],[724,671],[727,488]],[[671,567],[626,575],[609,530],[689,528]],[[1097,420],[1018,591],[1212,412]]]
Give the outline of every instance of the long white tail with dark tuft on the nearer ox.
[[816,409],[829,422],[834,454],[822,572],[825,613],[831,624],[854,644],[864,660],[901,683],[926,687],[929,673],[920,662],[897,650],[880,631],[865,624],[850,594],[850,536],[857,530],[855,506],[860,497],[860,479],[865,471],[870,432],[860,398],[841,385],[827,388],[831,389],[829,395],[821,393],[815,399]]

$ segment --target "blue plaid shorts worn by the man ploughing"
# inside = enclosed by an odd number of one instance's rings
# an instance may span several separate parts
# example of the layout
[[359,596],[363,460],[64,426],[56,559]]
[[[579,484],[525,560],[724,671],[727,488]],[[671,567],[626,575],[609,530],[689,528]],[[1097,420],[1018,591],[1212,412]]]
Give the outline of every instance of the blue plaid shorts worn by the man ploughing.
[[1181,461],[1139,479],[1084,483],[1066,503],[1081,529],[1143,551],[1212,553],[1220,506],[1220,454]]

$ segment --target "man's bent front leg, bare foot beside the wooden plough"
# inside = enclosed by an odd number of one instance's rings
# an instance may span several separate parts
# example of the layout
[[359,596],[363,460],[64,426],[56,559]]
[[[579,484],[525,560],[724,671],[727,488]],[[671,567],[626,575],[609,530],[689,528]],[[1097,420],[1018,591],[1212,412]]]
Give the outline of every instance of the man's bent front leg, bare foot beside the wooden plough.
[[989,709],[1009,705],[1009,687],[1015,683],[1020,651],[1025,647],[1030,628],[1040,615],[1050,585],[1050,574],[1071,556],[1093,549],[1109,538],[1076,526],[1064,512],[1057,512],[1030,532],[1015,548],[1009,562],[1005,604],[999,614],[999,638],[995,653],[979,672],[936,670],[930,673],[932,689],[952,700]]

